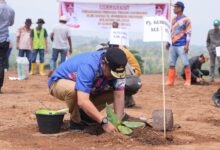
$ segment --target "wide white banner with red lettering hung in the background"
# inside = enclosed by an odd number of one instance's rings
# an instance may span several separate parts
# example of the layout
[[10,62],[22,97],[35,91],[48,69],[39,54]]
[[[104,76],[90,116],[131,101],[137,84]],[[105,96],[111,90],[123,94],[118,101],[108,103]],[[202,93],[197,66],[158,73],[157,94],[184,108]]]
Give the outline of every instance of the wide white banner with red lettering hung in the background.
[[68,26],[82,30],[110,29],[117,21],[120,28],[133,32],[143,30],[143,18],[169,18],[169,4],[98,4],[60,2],[60,15],[67,16]]

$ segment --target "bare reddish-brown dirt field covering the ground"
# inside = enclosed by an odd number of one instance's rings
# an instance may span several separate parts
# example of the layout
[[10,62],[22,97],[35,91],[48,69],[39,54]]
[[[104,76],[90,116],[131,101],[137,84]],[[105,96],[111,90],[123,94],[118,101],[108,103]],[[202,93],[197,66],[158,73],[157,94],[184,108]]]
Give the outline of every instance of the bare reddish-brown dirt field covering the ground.
[[[132,136],[97,134],[98,129],[85,132],[63,131],[55,135],[38,132],[35,110],[66,108],[64,102],[48,94],[47,77],[38,75],[26,81],[9,81],[6,73],[4,94],[0,95],[1,150],[98,150],[98,149],[220,149],[220,108],[214,107],[211,96],[220,82],[210,86],[184,87],[177,80],[175,88],[166,87],[167,106],[174,113],[179,128],[169,132],[173,140],[164,141],[163,133],[151,128],[136,129]],[[151,118],[153,110],[162,108],[160,75],[142,76],[143,87],[135,95],[137,106],[127,109],[132,117]],[[45,105],[43,106],[42,103]],[[67,122],[69,116],[65,116]]]

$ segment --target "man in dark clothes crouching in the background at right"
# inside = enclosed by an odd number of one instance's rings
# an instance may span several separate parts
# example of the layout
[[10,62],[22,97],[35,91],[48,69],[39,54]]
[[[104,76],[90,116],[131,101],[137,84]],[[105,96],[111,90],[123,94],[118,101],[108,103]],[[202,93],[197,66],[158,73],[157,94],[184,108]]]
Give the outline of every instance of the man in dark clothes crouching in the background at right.
[[[200,56],[194,56],[189,60],[191,68],[191,83],[192,84],[203,84],[203,76],[208,76],[208,70],[202,70],[202,65],[208,61],[208,57],[205,57],[203,54]],[[184,68],[181,73],[183,79],[186,79]]]

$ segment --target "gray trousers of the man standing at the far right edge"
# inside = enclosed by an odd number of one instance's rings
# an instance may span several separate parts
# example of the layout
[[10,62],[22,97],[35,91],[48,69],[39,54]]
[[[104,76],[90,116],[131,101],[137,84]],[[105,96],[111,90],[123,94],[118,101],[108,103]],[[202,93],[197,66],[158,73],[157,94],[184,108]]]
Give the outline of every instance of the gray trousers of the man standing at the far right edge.
[[215,50],[209,51],[209,56],[210,56],[210,76],[211,78],[214,78],[215,77],[215,60],[217,58],[218,67],[220,67],[220,57],[216,56]]

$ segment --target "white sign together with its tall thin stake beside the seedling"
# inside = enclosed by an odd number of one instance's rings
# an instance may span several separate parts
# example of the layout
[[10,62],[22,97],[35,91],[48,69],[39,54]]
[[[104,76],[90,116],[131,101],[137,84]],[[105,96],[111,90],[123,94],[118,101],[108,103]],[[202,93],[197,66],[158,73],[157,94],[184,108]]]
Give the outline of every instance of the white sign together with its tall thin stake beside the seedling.
[[144,41],[161,42],[162,51],[162,82],[163,82],[163,110],[164,110],[164,138],[166,138],[166,93],[165,93],[165,65],[164,65],[164,42],[171,42],[171,27],[164,17],[144,18]]

